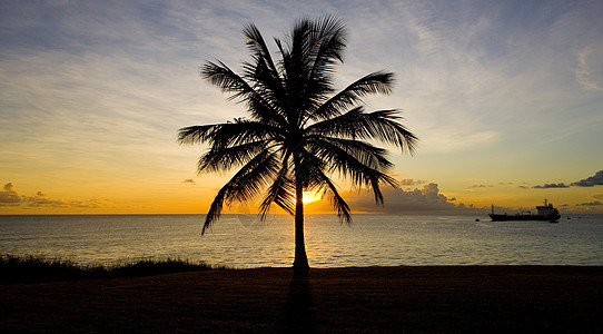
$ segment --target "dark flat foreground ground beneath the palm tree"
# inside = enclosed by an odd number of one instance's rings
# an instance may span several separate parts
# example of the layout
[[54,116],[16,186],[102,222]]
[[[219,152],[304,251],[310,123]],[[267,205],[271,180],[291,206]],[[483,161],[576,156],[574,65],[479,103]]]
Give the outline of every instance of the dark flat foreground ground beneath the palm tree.
[[[603,332],[603,267],[226,269],[0,285],[7,332]],[[7,331],[8,330],[8,331]]]

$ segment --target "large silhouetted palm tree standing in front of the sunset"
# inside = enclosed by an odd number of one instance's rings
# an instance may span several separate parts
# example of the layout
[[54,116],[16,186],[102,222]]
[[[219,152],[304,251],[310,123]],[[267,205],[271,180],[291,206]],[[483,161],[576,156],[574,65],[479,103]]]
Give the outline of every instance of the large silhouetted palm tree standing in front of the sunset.
[[251,62],[235,73],[221,61],[208,61],[201,77],[245,102],[249,116],[231,121],[190,126],[179,130],[180,144],[204,144],[199,174],[238,168],[218,191],[201,234],[220,216],[223,207],[263,195],[259,216],[271,204],[295,217],[294,268],[307,269],[304,242],[304,191],[327,196],[342,222],[350,209],[332,179],[334,174],[372,189],[383,203],[380,184],[396,185],[386,149],[364,139],[393,145],[403,153],[415,149],[417,137],[398,122],[396,110],[367,112],[362,99],[389,94],[393,73],[369,73],[335,92],[335,65],[346,47],[344,23],[333,17],[297,22],[289,40],[275,39],[275,61],[259,30],[243,30]]

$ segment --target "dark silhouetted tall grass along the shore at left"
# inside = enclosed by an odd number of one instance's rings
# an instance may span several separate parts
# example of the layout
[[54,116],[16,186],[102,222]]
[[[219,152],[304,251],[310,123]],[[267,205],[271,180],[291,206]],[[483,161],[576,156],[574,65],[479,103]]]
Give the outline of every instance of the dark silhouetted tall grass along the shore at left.
[[200,272],[216,267],[182,258],[141,259],[110,266],[79,265],[63,257],[0,254],[0,284],[43,283],[73,279],[138,277],[171,273]]

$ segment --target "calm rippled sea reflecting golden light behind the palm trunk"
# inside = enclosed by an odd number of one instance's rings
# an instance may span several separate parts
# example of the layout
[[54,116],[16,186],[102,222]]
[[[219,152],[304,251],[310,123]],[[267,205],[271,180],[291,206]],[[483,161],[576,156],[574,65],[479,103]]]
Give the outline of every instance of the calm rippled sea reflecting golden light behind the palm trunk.
[[[603,265],[603,216],[493,223],[487,217],[306,217],[314,267],[398,265]],[[80,264],[202,259],[235,267],[289,266],[293,219],[225,215],[200,236],[202,215],[0,216],[0,250],[60,255]]]

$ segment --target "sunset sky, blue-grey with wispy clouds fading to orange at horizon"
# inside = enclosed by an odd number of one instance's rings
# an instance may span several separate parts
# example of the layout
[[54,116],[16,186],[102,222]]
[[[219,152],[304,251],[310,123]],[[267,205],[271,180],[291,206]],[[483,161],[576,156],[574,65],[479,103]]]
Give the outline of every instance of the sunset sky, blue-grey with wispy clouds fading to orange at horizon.
[[0,214],[206,213],[228,175],[197,175],[207,147],[177,131],[246,110],[200,67],[240,70],[249,22],[271,41],[326,14],[347,26],[337,87],[394,72],[366,109],[421,139],[392,149],[384,206],[339,185],[354,210],[603,213],[602,1],[48,0],[0,2]]

